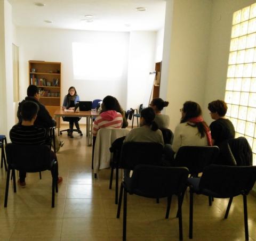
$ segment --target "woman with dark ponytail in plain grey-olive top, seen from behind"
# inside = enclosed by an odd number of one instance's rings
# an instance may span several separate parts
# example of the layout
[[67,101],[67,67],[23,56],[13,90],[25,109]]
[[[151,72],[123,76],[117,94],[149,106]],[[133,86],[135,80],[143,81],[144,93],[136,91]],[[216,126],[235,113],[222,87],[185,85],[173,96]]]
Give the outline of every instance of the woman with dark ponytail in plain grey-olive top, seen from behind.
[[153,142],[164,146],[162,131],[155,122],[155,112],[151,107],[140,112],[140,127],[131,129],[124,142]]

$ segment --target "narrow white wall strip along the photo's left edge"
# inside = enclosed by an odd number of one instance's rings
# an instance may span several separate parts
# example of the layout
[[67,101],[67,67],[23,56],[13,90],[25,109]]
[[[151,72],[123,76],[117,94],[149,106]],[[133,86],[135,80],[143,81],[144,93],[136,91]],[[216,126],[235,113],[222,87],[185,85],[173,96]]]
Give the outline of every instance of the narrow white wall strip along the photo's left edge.
[[14,124],[13,72],[12,72],[12,7],[0,1],[0,134],[9,137]]

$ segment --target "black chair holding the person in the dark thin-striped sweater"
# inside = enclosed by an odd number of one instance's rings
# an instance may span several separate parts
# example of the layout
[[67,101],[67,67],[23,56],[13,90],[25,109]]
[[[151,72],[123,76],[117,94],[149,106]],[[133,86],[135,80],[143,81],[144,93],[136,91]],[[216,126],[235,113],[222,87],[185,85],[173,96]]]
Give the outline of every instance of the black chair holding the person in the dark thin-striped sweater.
[[4,207],[7,207],[10,172],[12,171],[13,190],[16,190],[15,170],[26,172],[41,172],[51,170],[52,177],[52,207],[54,207],[55,190],[58,193],[57,162],[51,159],[51,149],[48,145],[18,145],[9,143],[5,148],[7,157],[7,178],[5,187]]

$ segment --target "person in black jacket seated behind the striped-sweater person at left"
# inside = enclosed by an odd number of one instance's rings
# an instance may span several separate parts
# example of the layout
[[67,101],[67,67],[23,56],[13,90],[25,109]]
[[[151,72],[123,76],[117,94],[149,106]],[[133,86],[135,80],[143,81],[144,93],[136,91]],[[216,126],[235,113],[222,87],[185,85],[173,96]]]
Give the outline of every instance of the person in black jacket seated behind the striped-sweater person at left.
[[[46,128],[46,130],[50,127],[56,126],[56,121],[52,119],[50,113],[46,110],[45,106],[39,102],[40,94],[39,88],[35,85],[29,85],[27,88],[27,97],[23,99],[22,102],[19,103],[17,117],[19,119],[19,124],[22,122],[21,117],[21,106],[26,101],[35,102],[39,106],[39,111],[37,113],[37,118],[35,120],[34,125],[36,127]],[[58,136],[55,136],[55,147],[56,151],[58,152],[60,147],[63,146],[64,142],[59,140]]]

